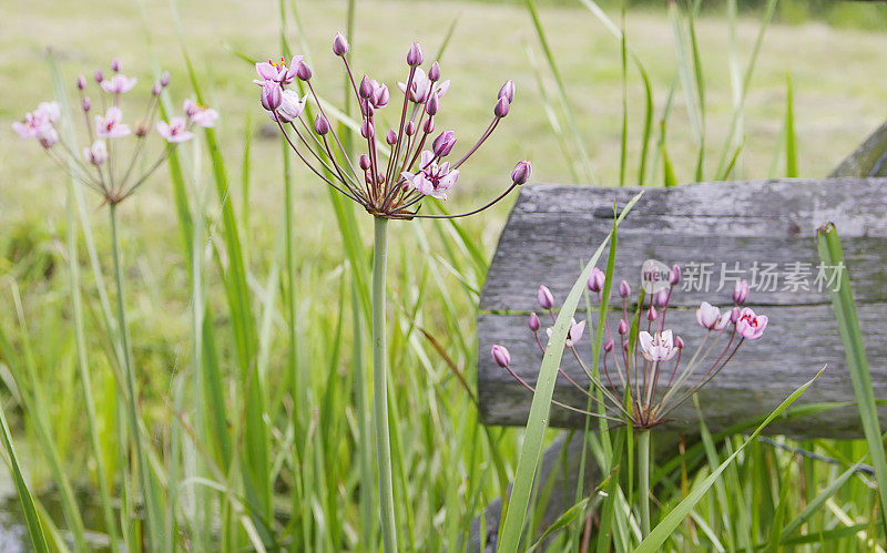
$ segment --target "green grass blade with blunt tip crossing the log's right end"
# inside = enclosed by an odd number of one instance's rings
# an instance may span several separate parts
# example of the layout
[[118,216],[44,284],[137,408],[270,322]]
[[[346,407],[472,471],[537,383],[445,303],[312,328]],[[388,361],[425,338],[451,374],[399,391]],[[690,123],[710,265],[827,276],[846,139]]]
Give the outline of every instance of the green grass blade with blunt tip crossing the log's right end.
[[847,369],[850,372],[853,391],[859,408],[863,432],[865,433],[866,442],[868,442],[871,465],[875,468],[875,478],[878,481],[881,523],[887,524],[885,522],[887,518],[884,515],[884,509],[887,508],[887,460],[885,460],[884,455],[884,441],[881,439],[875,391],[871,388],[871,373],[868,369],[859,318],[856,316],[850,277],[844,264],[844,252],[840,247],[840,238],[835,225],[832,223],[823,225],[816,232],[816,235],[819,259],[826,266],[840,267],[840,269],[833,269],[837,273],[836,277],[839,279],[838,288],[835,289],[835,286],[829,286],[828,291],[832,295],[832,306],[835,309],[840,339],[844,342],[844,352],[847,356]]

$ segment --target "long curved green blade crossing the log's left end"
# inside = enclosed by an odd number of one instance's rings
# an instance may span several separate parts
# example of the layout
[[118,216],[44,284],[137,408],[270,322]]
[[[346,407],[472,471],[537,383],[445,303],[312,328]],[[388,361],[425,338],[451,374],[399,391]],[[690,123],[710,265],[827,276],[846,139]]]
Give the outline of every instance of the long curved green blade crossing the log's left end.
[[[625,205],[616,223],[621,222],[629,214],[642,194],[643,193],[638,194]],[[506,513],[498,551],[507,553],[518,551],[523,523],[527,516],[527,508],[530,502],[530,492],[533,488],[533,479],[536,477],[537,467],[539,465],[539,459],[542,455],[542,444],[546,430],[548,429],[548,416],[551,409],[551,397],[554,392],[554,381],[558,376],[561,356],[563,355],[563,345],[567,339],[567,331],[570,327],[570,319],[579,305],[579,298],[582,295],[591,269],[597,265],[598,259],[609,242],[610,235],[603,239],[598,250],[585,265],[582,274],[579,275],[579,278],[573,284],[570,294],[561,306],[558,320],[554,324],[554,329],[549,340],[550,346],[546,349],[542,367],[539,369],[539,377],[536,382],[536,393],[533,395],[533,401],[530,406],[530,416],[527,420],[527,430],[523,436],[520,458],[518,459],[518,469],[514,473],[514,487],[511,490],[511,499],[509,501],[508,512]]]

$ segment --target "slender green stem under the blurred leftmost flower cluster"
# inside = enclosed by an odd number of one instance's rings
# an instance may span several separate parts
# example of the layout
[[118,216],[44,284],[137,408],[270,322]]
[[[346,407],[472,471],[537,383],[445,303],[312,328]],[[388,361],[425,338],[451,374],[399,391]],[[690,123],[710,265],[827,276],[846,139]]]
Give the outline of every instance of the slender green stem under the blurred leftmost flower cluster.
[[[120,340],[120,349],[123,354],[123,369],[125,372],[126,378],[126,408],[129,411],[129,419],[130,419],[130,430],[132,432],[132,440],[135,443],[135,455],[139,462],[139,479],[142,485],[142,498],[145,505],[145,523],[146,523],[146,532],[145,535],[149,539],[149,544],[153,541],[154,534],[152,533],[155,529],[159,529],[157,524],[160,521],[157,520],[156,513],[154,511],[154,498],[153,491],[149,482],[149,472],[147,472],[147,457],[145,455],[144,448],[142,446],[142,433],[139,424],[139,409],[136,406],[137,402],[137,395],[135,392],[135,375],[133,371],[132,366],[132,351],[130,349],[130,337],[129,330],[126,328],[126,309],[124,307],[123,301],[123,270],[121,267],[121,255],[120,255],[120,238],[118,236],[118,213],[116,213],[116,204],[110,204],[109,206],[109,214],[111,218],[111,248],[113,252],[114,258],[114,283],[116,285],[116,293],[118,293],[118,338]],[[155,547],[160,547],[160,543],[153,544]]]

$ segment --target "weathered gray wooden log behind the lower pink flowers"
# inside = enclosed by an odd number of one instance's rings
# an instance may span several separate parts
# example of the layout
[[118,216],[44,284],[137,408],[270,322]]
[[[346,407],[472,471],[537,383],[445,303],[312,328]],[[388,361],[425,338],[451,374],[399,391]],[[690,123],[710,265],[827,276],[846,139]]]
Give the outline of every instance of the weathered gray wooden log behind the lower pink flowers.
[[[536,288],[548,285],[562,301],[581,264],[612,226],[613,202],[624,203],[632,188],[527,185],[502,233],[481,294],[478,320],[478,390],[481,414],[492,424],[524,424],[530,392],[500,369],[489,356],[492,344],[507,346],[512,367],[536,380],[541,354],[527,329],[527,314],[539,310]],[[670,328],[693,351],[702,337],[694,308],[702,300],[727,305],[732,283],[720,284],[721,264],[746,269],[755,262],[809,264],[809,290],[753,290],[748,305],[771,317],[765,337],[746,342],[734,360],[700,393],[706,420],[722,429],[764,414],[825,363],[828,369],[802,402],[852,401],[853,389],[829,297],[813,286],[819,263],[815,231],[834,222],[838,228],[858,301],[860,325],[876,397],[887,398],[887,178],[791,180],[700,183],[649,190],[620,226],[615,279],[633,287],[644,259],[686,266],[711,263],[712,287],[676,290],[669,310]],[[603,268],[604,259],[599,266]],[[580,314],[584,318],[584,314]],[[616,315],[613,315],[614,322]],[[589,329],[580,348],[590,356]],[[564,370],[587,382],[580,367],[564,357]],[[561,377],[555,399],[585,406],[585,398]],[[695,424],[690,403],[672,416],[674,430]],[[887,409],[881,411],[887,423]],[[553,426],[577,427],[582,417],[552,407]],[[777,421],[773,432],[792,436],[849,438],[859,436],[855,408],[829,411],[805,420]]]

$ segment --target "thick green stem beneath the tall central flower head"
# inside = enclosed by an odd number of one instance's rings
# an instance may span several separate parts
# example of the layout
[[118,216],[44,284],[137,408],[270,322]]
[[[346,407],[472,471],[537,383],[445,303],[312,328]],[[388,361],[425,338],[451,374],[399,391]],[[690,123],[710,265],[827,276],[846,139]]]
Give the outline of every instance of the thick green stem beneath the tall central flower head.
[[376,462],[379,473],[381,537],[386,553],[397,551],[395,498],[391,488],[391,444],[388,433],[388,385],[385,344],[385,270],[388,263],[388,219],[376,217],[373,247],[373,393]]

